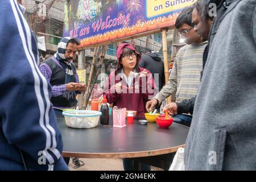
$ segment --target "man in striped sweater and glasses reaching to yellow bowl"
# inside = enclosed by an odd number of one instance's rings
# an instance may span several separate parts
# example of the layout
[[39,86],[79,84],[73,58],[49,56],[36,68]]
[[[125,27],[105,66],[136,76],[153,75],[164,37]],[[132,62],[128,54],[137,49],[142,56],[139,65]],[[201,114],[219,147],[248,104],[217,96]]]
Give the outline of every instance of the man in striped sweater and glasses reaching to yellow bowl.
[[[176,102],[195,97],[200,84],[203,69],[203,52],[207,42],[201,42],[200,36],[193,30],[193,8],[184,9],[177,17],[175,27],[183,36],[186,46],[177,52],[169,81],[163,89],[147,102],[146,109],[154,110],[156,106],[176,91]],[[192,117],[179,114],[174,116],[174,121],[190,125]]]

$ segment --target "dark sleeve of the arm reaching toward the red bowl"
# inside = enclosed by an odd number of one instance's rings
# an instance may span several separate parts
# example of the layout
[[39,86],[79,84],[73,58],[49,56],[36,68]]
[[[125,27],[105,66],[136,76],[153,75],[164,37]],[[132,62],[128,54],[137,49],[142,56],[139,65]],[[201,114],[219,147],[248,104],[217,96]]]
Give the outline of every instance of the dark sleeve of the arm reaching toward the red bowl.
[[189,113],[193,114],[194,105],[195,105],[196,97],[192,97],[191,99],[186,99],[177,104],[177,113]]

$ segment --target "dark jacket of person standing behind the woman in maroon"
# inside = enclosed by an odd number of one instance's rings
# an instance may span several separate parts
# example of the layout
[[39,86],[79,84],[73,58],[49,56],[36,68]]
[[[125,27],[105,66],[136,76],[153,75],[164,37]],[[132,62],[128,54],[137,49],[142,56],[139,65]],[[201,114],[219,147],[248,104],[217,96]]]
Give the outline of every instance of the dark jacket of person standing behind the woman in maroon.
[[145,55],[142,55],[142,61],[139,63],[139,67],[145,68],[152,73],[152,76],[155,80],[154,74],[159,74],[158,83],[156,86],[159,86],[159,90],[163,88],[164,85],[164,63],[159,57],[158,53],[148,52]]

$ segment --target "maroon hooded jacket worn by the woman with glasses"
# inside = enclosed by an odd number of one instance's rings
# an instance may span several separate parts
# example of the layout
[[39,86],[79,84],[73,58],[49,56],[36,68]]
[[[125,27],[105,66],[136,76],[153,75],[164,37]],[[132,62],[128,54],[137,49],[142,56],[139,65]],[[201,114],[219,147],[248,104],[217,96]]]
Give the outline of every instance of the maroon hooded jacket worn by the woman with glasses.
[[[127,43],[120,44],[117,49],[117,69],[110,73],[108,82],[106,82],[104,94],[108,99],[110,104],[113,103],[113,106],[117,106],[118,108],[126,108],[127,110],[137,111],[137,117],[143,117],[144,113],[146,113],[146,102],[150,100],[150,96],[153,97],[155,95],[155,82],[154,78],[152,78],[151,73],[144,68],[138,68],[137,72],[148,72],[147,77],[139,77],[139,75],[135,76],[133,79],[133,84],[129,88],[125,79],[123,79],[123,75],[121,73],[122,68],[119,65],[119,59],[122,56],[123,48],[129,48],[137,53],[137,65],[138,62],[141,61],[141,55],[134,49],[133,46]],[[115,92],[115,84],[118,82],[122,83],[122,93],[118,94]]]

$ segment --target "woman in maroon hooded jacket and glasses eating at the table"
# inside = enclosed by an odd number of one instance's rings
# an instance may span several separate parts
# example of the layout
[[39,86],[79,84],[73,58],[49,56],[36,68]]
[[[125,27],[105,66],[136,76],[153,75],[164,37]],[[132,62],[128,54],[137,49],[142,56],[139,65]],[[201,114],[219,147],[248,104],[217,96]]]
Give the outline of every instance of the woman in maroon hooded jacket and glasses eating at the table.
[[[137,117],[144,118],[146,102],[155,95],[155,82],[151,73],[139,68],[141,55],[131,44],[122,43],[117,49],[117,69],[110,73],[104,94],[108,102],[118,108],[137,111]],[[133,171],[134,161],[123,159],[125,171]],[[150,166],[142,164],[143,171],[150,171]]]

